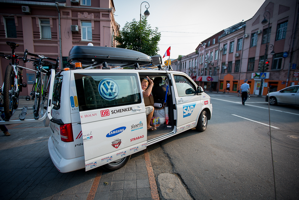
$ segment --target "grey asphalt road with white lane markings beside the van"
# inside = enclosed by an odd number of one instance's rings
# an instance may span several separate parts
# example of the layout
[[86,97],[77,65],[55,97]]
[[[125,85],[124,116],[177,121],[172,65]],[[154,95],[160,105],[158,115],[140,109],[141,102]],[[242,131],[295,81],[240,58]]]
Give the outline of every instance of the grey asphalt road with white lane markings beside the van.
[[[193,199],[275,199],[268,104],[209,95],[213,114],[205,132],[188,130],[148,146],[154,175],[177,174]],[[298,199],[299,107],[270,109],[276,197]]]

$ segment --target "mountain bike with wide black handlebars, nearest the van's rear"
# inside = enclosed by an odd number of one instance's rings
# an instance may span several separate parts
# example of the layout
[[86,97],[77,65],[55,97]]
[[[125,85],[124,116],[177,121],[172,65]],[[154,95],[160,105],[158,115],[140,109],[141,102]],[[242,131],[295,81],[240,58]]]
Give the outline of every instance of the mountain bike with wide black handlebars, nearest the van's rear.
[[[38,57],[38,59],[36,58],[32,58],[32,59],[27,59],[27,55],[31,55],[34,57]],[[56,61],[56,64],[51,66],[51,67],[43,67],[43,65],[45,64],[44,59],[47,60],[51,60],[51,61]],[[34,119],[39,119],[39,108],[41,105],[41,101],[42,103],[45,101],[45,97],[46,97],[46,92],[48,91],[48,82],[49,82],[49,76],[50,76],[50,70],[51,69],[57,69],[59,66],[59,57],[57,59],[55,58],[49,58],[43,55],[37,55],[37,54],[33,54],[28,52],[28,50],[25,50],[24,53],[24,62],[28,62],[28,61],[35,61],[33,66],[36,67],[36,77],[35,77],[35,82],[33,84],[32,87],[32,91],[30,92],[30,95],[32,95],[31,99],[34,102],[33,107],[33,118]],[[43,73],[44,72],[44,73]],[[45,78],[43,77],[43,74],[45,74]],[[47,83],[46,85],[44,85],[44,83]],[[44,109],[42,107],[42,109]]]

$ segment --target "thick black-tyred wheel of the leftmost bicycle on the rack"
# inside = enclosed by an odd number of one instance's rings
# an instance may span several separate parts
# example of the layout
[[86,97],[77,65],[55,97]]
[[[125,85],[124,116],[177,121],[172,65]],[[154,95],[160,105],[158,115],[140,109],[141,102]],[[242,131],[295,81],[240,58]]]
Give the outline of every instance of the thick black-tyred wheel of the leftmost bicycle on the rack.
[[19,94],[16,91],[15,73],[12,65],[6,67],[3,87],[4,120],[8,121],[13,115],[13,109],[17,109],[19,104]]

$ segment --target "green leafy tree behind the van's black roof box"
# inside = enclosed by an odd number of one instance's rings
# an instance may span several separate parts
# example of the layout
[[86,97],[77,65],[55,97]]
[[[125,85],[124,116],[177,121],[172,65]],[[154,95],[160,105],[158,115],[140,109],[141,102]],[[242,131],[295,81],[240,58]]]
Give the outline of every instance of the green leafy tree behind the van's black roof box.
[[120,35],[115,36],[115,40],[119,43],[116,47],[140,51],[149,56],[157,55],[160,37],[158,28],[151,29],[147,24],[147,18],[142,16],[141,22],[133,19],[124,25]]

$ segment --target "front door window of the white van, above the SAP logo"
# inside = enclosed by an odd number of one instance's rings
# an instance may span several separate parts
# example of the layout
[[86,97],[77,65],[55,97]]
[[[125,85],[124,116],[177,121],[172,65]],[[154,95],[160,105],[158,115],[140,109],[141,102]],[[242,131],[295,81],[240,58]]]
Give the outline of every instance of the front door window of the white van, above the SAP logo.
[[179,97],[195,94],[196,86],[193,85],[185,76],[174,75],[173,78],[176,82],[176,89],[178,91]]

